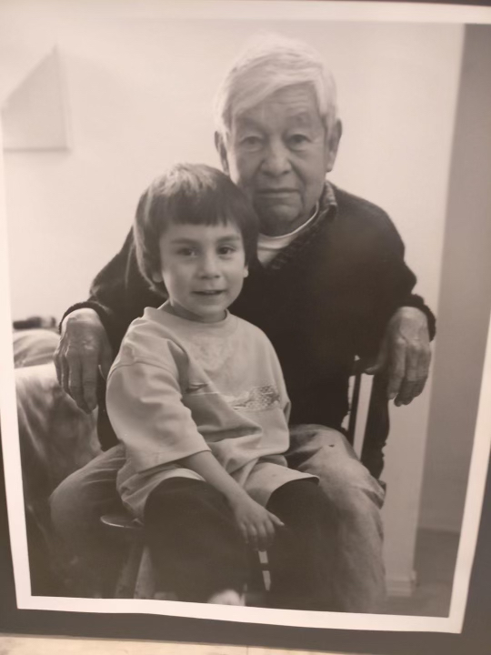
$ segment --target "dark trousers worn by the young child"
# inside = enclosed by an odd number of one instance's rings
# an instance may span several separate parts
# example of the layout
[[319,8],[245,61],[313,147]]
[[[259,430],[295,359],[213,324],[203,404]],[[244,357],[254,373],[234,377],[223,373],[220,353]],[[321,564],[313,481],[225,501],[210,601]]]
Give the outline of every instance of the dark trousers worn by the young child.
[[[270,605],[333,610],[336,517],[323,492],[310,480],[294,480],[276,489],[267,509],[286,525],[276,529],[268,549]],[[160,590],[195,602],[224,589],[243,592],[246,544],[225,497],[211,485],[186,478],[162,482],[146,501],[145,531]]]

